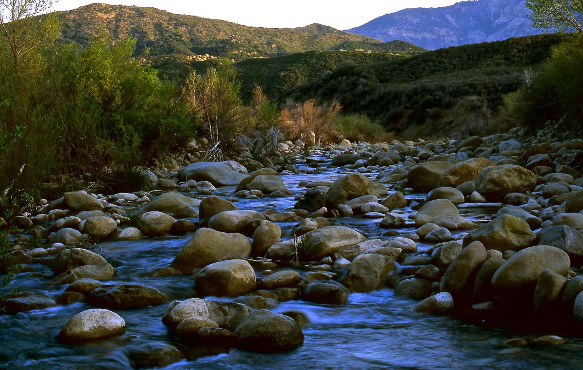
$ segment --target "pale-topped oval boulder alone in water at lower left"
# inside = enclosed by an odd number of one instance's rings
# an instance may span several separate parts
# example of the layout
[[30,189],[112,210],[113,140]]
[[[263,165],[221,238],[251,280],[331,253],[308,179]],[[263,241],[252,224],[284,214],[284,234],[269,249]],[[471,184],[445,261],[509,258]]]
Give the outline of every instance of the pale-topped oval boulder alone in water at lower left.
[[103,339],[123,333],[125,321],[107,309],[87,309],[65,323],[59,340],[65,343]]

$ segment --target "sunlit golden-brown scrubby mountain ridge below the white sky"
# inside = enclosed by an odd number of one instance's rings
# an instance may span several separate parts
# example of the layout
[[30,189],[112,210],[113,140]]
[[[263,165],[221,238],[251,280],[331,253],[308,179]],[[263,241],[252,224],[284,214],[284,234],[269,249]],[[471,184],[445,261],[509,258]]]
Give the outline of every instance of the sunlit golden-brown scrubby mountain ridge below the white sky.
[[136,55],[203,55],[236,60],[311,50],[420,51],[408,42],[381,42],[322,24],[296,29],[247,27],[224,20],[177,15],[155,8],[93,3],[56,13],[66,41],[86,44],[100,33],[134,37]]

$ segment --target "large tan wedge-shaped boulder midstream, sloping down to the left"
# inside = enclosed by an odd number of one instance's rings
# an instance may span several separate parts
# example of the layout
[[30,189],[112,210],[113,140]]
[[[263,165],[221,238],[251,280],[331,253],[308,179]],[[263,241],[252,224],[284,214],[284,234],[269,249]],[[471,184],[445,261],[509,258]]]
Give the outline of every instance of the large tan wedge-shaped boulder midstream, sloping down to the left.
[[196,230],[170,266],[184,272],[192,271],[214,262],[247,257],[251,247],[251,240],[242,234],[202,227]]

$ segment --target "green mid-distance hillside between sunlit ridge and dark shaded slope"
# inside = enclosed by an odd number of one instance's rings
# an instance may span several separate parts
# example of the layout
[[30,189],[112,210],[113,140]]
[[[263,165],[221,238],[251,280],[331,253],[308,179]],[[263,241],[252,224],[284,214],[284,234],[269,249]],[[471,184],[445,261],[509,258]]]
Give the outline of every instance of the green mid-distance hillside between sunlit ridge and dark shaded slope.
[[244,94],[257,84],[271,98],[282,101],[297,86],[318,79],[322,74],[339,67],[388,62],[413,54],[419,52],[308,51],[275,58],[247,59],[236,63],[235,67]]

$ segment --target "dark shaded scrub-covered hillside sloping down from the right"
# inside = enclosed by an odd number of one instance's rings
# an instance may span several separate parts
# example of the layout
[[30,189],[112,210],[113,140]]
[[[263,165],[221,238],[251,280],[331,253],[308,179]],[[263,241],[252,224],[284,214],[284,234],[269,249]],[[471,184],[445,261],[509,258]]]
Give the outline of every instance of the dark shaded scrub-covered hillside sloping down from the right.
[[[478,126],[487,124],[482,119],[496,111],[504,94],[524,82],[525,69],[545,61],[561,40],[559,34],[511,38],[347,67],[298,87],[294,98],[336,99],[346,112],[364,113],[399,133],[417,133],[419,125],[426,124],[424,134],[455,132],[459,125],[449,109],[462,98],[476,97],[469,110],[480,116]],[[443,122],[446,117],[451,122]]]

